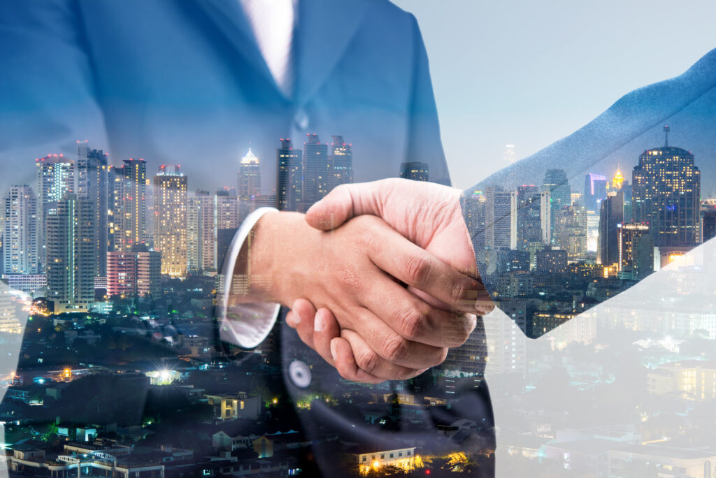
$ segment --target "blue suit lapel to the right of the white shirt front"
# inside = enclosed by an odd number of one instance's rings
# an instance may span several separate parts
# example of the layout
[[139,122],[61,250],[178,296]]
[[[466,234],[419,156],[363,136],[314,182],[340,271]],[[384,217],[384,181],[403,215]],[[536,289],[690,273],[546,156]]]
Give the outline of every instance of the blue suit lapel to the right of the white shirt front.
[[368,0],[298,0],[294,36],[295,100],[308,101],[324,83],[363,21]]

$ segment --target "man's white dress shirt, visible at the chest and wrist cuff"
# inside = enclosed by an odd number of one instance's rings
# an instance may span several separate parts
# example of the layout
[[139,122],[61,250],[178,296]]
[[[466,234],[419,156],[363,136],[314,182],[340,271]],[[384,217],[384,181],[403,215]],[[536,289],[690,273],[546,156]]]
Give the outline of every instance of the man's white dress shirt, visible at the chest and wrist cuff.
[[[276,85],[287,97],[294,84],[293,36],[296,0],[238,0],[246,13],[258,49],[269,67]],[[277,303],[242,303],[229,306],[228,298],[235,281],[236,259],[251,228],[274,208],[259,208],[241,223],[227,250],[221,273],[224,276],[219,301],[219,337],[241,348],[256,348],[274,328],[281,306]]]

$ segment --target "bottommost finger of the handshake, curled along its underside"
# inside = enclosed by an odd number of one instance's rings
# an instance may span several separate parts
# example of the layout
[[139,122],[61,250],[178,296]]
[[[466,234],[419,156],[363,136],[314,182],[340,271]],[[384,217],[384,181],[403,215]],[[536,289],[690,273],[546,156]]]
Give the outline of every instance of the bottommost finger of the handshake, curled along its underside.
[[343,329],[341,331],[341,338],[349,343],[352,351],[351,361],[344,361],[344,364],[349,366],[349,371],[358,377],[377,377],[382,380],[407,380],[421,374],[424,370],[399,366],[385,360],[368,345],[362,336],[349,329]]

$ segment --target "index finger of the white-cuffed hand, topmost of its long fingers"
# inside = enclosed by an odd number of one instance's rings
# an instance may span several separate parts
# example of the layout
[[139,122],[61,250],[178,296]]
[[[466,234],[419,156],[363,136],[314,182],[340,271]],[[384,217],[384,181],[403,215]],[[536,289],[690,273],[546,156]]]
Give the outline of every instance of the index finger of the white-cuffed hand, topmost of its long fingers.
[[[402,235],[376,229],[367,244],[369,258],[386,273],[437,298],[451,311],[480,313],[483,284],[460,273]],[[480,299],[480,300],[478,300]],[[480,310],[478,310],[478,308]]]

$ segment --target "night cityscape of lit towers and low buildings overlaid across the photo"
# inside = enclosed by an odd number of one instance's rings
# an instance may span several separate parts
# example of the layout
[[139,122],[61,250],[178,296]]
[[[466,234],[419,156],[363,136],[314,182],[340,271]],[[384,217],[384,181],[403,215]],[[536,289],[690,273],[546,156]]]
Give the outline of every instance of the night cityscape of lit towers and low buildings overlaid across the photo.
[[[716,339],[716,306],[692,278],[702,271],[674,271],[684,303],[646,316],[593,313],[716,237],[716,198],[702,197],[698,158],[669,146],[668,127],[664,135],[664,146],[644,150],[632,167],[586,173],[581,190],[552,169],[540,185],[493,185],[465,197],[478,269],[511,321],[486,320],[484,333],[475,331],[441,366],[379,386],[344,381],[314,351],[291,345],[314,377],[295,402],[282,384],[279,327],[255,351],[218,343],[218,271],[251,211],[305,212],[353,182],[353,146],[344,137],[320,142],[309,134],[296,148],[279,140],[271,194],[263,194],[251,148],[235,182],[215,192],[191,190],[180,165],[134,158],[112,166],[87,141],[77,142],[74,159],[37,158],[36,182],[12,186],[0,211],[0,341],[21,343],[17,369],[0,381],[7,389],[0,467],[52,478],[312,476],[311,447],[321,447],[348,477],[470,476],[490,466],[493,424],[460,414],[465,405],[455,396],[487,375],[493,393],[504,391],[495,404],[509,402],[529,429],[509,434],[511,425],[500,425],[500,448],[515,463],[541,464],[534,476],[653,476],[655,467],[659,476],[694,476],[690,467],[716,464],[716,451],[702,446],[714,419],[698,421],[716,404],[716,352],[707,346]],[[511,162],[513,148],[505,153]],[[422,162],[402,163],[395,175],[430,180]],[[679,312],[697,306],[699,293],[710,294],[710,306]],[[619,329],[622,353],[635,343],[648,350],[641,368],[590,365],[590,353],[606,353],[603,329]],[[539,348],[528,346],[527,337],[545,334]],[[546,358],[558,351],[571,358]],[[674,360],[684,353],[690,361]],[[539,386],[547,380],[562,388]],[[630,380],[643,381],[641,408],[614,423],[577,424],[576,411],[568,422],[541,408],[553,394],[574,396],[575,406],[586,391],[616,396]],[[670,454],[654,447],[677,436],[664,439],[647,403],[702,442]],[[392,447],[377,446],[311,421],[325,406],[400,433]],[[309,418],[299,421],[301,414]],[[306,422],[319,442],[306,438]],[[428,428],[437,429],[430,442],[410,434]]]

